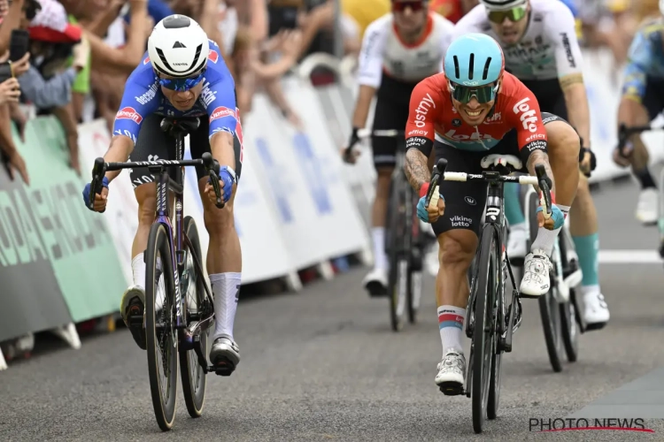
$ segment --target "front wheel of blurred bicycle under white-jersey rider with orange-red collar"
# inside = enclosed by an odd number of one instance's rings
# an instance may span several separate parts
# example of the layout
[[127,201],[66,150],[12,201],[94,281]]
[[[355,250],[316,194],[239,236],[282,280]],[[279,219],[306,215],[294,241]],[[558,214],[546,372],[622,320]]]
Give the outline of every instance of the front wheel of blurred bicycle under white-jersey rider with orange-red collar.
[[390,324],[393,331],[401,331],[405,323],[405,309],[408,297],[409,251],[405,248],[406,229],[405,217],[409,213],[406,206],[406,192],[409,186],[402,173],[392,180],[390,186],[390,278],[388,294],[390,295]]

